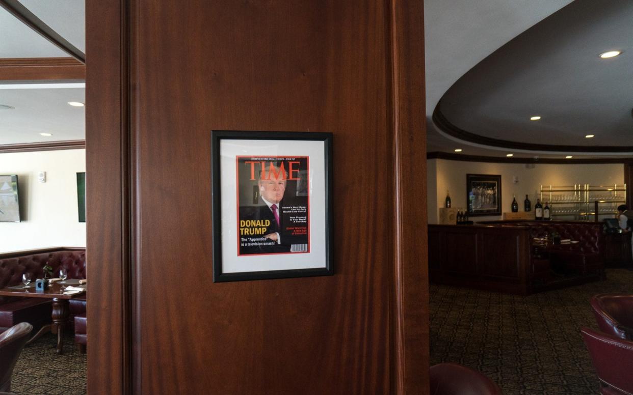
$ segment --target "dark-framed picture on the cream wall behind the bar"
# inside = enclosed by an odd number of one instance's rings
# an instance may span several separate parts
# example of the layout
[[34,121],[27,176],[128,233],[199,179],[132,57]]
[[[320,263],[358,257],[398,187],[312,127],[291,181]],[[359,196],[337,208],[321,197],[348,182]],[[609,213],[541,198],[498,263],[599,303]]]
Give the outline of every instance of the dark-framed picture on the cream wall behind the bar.
[[501,215],[501,176],[466,174],[468,216]]

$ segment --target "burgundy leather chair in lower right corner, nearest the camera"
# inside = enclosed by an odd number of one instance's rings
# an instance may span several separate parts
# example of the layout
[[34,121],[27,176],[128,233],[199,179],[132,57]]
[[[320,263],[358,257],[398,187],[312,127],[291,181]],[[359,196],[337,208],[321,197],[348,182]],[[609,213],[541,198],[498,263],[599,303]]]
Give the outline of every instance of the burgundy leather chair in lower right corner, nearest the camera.
[[589,328],[580,332],[600,379],[600,393],[633,394],[633,342]]

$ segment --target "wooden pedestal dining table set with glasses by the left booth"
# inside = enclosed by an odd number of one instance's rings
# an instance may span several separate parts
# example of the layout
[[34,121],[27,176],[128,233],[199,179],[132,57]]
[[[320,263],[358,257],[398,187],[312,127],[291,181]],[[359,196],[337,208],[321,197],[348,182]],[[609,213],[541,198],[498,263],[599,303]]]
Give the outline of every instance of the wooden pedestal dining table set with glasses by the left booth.
[[[66,286],[82,288],[82,291],[66,291]],[[70,326],[70,300],[78,296],[84,296],[86,285],[80,284],[77,279],[69,279],[66,281],[54,281],[49,283],[48,288],[43,291],[37,291],[35,284],[10,286],[0,289],[0,296],[16,296],[23,298],[47,298],[53,303],[53,312],[51,313],[51,324],[44,325],[27,344],[32,343],[42,334],[50,331],[57,334],[57,353],[63,353],[63,331]]]

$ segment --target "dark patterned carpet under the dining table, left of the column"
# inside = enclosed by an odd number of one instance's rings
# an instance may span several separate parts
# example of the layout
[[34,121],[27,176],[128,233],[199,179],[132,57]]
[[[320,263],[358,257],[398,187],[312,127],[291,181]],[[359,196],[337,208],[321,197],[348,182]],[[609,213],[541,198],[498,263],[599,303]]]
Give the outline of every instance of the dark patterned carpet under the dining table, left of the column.
[[64,338],[64,353],[55,353],[57,335],[46,334],[26,346],[18,360],[11,392],[19,395],[85,394],[86,355],[77,351],[72,336]]

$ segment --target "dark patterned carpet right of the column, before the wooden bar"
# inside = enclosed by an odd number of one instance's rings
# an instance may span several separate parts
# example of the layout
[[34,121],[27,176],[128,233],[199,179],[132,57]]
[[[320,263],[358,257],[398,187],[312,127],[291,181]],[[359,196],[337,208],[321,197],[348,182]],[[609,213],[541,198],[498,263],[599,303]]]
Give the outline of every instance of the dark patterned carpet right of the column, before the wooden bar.
[[633,292],[633,271],[530,296],[430,286],[431,365],[455,362],[486,374],[504,395],[597,394],[580,327],[598,329],[591,296]]

